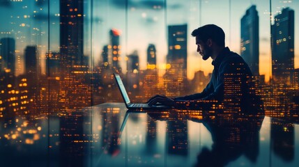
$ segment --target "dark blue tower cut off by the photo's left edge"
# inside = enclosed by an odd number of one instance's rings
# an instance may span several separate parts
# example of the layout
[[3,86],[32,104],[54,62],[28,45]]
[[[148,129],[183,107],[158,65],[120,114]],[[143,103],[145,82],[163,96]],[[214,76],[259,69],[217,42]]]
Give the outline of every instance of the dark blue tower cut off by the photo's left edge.
[[2,61],[1,71],[10,72],[10,74],[15,74],[15,39],[13,38],[2,38],[0,40],[1,51],[0,56]]

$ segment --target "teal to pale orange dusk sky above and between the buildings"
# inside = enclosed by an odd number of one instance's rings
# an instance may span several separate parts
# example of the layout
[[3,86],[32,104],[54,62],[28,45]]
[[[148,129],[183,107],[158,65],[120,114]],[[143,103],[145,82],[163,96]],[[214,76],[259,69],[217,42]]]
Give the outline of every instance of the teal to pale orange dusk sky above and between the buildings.
[[[187,24],[188,34],[204,24],[217,24],[227,35],[226,45],[240,54],[240,19],[247,8],[256,5],[259,13],[260,74],[266,74],[268,80],[270,76],[269,1],[171,0],[166,1],[166,6],[164,4],[165,2],[160,0],[128,0],[126,12],[125,1],[86,1],[84,3],[84,54],[92,55],[95,62],[100,61],[102,47],[109,43],[109,29],[118,29],[121,31],[123,67],[125,67],[125,56],[137,50],[140,68],[146,69],[146,49],[150,43],[155,45],[158,65],[161,65],[166,62],[167,26],[178,24]],[[296,21],[299,18],[299,1],[272,1],[273,17],[286,7],[295,10],[295,67],[297,68],[299,67],[299,23]],[[1,17],[0,38],[17,39],[17,55],[20,56],[21,61],[27,45],[39,45],[38,54],[43,62],[48,48],[48,32],[49,48],[52,51],[59,51],[59,1],[50,1],[50,31],[47,29],[47,8],[47,1],[0,1],[0,10],[6,13]],[[205,74],[212,72],[211,60],[202,61],[201,56],[196,53],[195,39],[189,35],[187,42],[187,77],[192,79],[197,70],[203,70]],[[41,64],[44,66],[44,63]],[[23,70],[20,67],[19,74]]]

